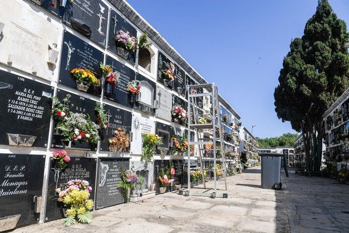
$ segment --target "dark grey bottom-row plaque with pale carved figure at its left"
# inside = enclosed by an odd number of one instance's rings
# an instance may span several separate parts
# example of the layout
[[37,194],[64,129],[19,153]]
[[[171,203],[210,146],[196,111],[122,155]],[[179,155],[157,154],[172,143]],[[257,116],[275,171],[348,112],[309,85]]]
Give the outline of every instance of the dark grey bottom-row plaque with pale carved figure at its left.
[[121,179],[120,171],[124,168],[129,168],[129,159],[98,159],[96,210],[125,202],[122,190],[117,188]]

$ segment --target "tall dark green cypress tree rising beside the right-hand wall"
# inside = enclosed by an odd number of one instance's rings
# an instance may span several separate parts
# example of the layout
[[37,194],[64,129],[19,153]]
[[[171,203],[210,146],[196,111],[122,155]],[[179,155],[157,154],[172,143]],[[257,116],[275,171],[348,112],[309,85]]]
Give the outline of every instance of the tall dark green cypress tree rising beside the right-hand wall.
[[344,48],[348,38],[345,22],[327,0],[319,0],[304,35],[291,42],[283,60],[274,92],[275,111],[279,119],[301,132],[308,170],[321,166],[322,114],[348,87],[349,54]]

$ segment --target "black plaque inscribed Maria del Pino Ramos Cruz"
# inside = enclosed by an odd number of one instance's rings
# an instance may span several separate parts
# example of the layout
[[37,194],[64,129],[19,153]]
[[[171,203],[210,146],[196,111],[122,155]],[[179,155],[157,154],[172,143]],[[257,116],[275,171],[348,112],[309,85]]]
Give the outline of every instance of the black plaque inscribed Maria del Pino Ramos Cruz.
[[0,70],[0,144],[46,147],[53,87]]

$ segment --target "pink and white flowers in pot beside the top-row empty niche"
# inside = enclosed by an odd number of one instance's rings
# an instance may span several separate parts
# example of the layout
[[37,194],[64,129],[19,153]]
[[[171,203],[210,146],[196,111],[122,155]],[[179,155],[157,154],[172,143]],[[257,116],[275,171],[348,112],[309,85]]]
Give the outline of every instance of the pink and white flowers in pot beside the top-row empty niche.
[[130,36],[129,31],[118,30],[115,35],[117,54],[127,59],[129,52],[134,53],[136,48],[136,37]]

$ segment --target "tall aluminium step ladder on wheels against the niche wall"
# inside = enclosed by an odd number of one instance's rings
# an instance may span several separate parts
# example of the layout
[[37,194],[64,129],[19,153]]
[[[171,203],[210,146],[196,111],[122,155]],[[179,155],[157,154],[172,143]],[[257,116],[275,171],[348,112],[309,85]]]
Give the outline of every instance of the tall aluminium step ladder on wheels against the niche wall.
[[[198,88],[206,88],[209,92],[207,93],[197,93]],[[219,95],[217,91],[217,87],[214,83],[212,84],[196,84],[196,85],[187,85],[187,93],[188,93],[188,116],[190,118],[191,111],[193,111],[193,120],[194,124],[192,124],[191,119],[188,121],[188,188],[184,190],[185,194],[187,196],[204,196],[204,197],[221,197],[221,198],[228,198],[228,193],[217,193],[217,172],[223,173],[223,178],[225,182],[225,190],[227,190],[227,165],[226,165],[226,158],[225,158],[225,145],[223,140],[223,129],[221,124],[221,117],[220,117],[220,102],[219,102]],[[211,118],[210,123],[200,124],[199,123],[199,113],[198,113],[198,105],[197,103],[197,97],[210,97],[210,109],[211,109]],[[191,130],[194,130],[196,133],[196,139],[191,138],[190,132]],[[210,137],[204,137],[203,136],[203,130],[209,132]],[[219,135],[217,135],[219,134]],[[217,148],[217,142],[219,142],[219,145],[221,148]],[[209,190],[202,190],[199,189],[199,191],[194,190],[198,188],[192,188],[190,185],[190,174],[193,168],[190,167],[190,146],[198,146],[199,151],[199,160],[200,160],[200,169],[201,169],[201,176],[203,181],[204,189],[206,189],[206,180],[213,181],[213,188],[209,188]],[[213,145],[212,148],[205,148],[205,145]],[[207,153],[207,151],[211,151]],[[220,151],[220,153],[219,153]],[[212,157],[213,153],[213,157]],[[211,166],[211,163],[213,162],[213,167],[206,167],[205,161],[209,161],[209,165]],[[217,163],[219,162],[219,163]],[[222,167],[217,169],[217,164],[220,164]],[[194,168],[195,169],[195,168]],[[204,176],[204,171],[213,173],[213,179],[206,179]],[[209,176],[211,177],[211,175]],[[209,191],[212,192],[209,192]]]

